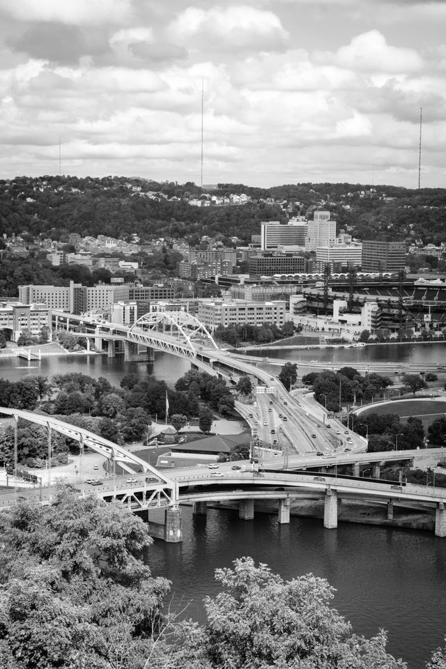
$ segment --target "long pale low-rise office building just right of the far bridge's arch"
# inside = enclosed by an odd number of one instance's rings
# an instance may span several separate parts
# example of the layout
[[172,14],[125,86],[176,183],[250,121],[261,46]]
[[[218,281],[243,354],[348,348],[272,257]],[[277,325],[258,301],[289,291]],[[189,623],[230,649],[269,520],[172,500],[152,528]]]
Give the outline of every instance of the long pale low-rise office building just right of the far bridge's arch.
[[245,300],[199,300],[198,319],[209,330],[219,325],[257,325],[275,323],[281,328],[286,321],[286,301],[247,302]]

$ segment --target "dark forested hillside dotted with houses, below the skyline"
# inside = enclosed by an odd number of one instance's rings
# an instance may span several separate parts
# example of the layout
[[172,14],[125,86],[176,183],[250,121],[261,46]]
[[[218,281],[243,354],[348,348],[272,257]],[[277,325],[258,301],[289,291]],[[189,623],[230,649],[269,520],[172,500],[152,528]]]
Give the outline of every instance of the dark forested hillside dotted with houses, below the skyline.
[[314,208],[332,212],[338,229],[350,226],[357,238],[385,233],[394,238],[438,244],[445,238],[446,190],[408,190],[380,185],[301,183],[271,187],[219,184],[211,193],[245,193],[243,206],[191,206],[191,198],[209,194],[194,183],[157,183],[125,177],[17,177],[0,180],[0,233],[28,232],[63,238],[77,232],[141,240],[159,236],[236,236],[247,243],[260,222],[287,220],[295,213],[312,216]]

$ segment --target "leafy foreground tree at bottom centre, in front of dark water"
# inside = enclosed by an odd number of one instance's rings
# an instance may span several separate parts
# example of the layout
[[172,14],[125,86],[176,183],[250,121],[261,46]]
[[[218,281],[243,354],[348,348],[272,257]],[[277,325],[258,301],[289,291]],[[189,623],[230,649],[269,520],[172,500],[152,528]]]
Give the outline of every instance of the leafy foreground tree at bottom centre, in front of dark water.
[[233,565],[215,571],[224,592],[206,597],[202,630],[192,623],[183,629],[176,666],[193,659],[193,666],[206,669],[403,669],[387,654],[385,633],[371,640],[351,633],[351,625],[330,606],[334,589],[325,579],[307,574],[284,581],[251,557]]

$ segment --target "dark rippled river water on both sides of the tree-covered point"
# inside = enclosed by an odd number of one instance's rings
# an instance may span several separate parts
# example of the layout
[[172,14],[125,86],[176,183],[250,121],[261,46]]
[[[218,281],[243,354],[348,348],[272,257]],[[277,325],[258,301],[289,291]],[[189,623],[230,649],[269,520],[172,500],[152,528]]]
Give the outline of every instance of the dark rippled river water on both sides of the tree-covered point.
[[[358,356],[369,360],[443,362],[445,344],[392,345],[361,348],[325,348],[301,351],[301,360],[341,360],[354,366]],[[296,351],[268,351],[269,357],[298,360]],[[324,357],[324,356],[327,357]],[[361,357],[360,357],[361,359]],[[153,364],[123,362],[122,356],[47,357],[40,366],[15,358],[0,359],[0,378],[18,380],[26,374],[82,372],[105,376],[119,385],[124,374],[155,374],[169,385],[189,369],[189,364],[167,353],[156,353]],[[276,369],[277,371],[277,369]],[[340,523],[325,530],[321,520],[291,517],[279,525],[275,515],[257,514],[254,521],[240,521],[231,510],[209,509],[207,518],[194,517],[183,507],[182,544],[155,541],[147,555],[153,574],[172,582],[174,603],[190,601],[187,617],[203,622],[203,597],[215,595],[219,586],[214,570],[230,567],[232,560],[250,555],[266,562],[283,578],[310,571],[327,578],[337,588],[334,606],[351,621],[356,633],[373,636],[387,629],[387,649],[422,669],[432,649],[446,634],[446,539],[419,532],[369,525]]]

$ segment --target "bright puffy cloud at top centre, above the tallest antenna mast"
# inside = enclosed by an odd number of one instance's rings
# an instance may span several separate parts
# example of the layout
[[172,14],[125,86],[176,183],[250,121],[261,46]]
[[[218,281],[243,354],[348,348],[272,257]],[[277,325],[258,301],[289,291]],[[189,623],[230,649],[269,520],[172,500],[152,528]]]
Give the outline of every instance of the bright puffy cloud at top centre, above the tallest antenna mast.
[[213,49],[277,49],[288,38],[277,15],[249,6],[188,7],[167,34],[178,44]]

